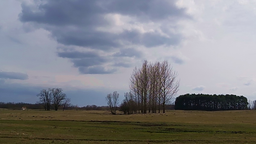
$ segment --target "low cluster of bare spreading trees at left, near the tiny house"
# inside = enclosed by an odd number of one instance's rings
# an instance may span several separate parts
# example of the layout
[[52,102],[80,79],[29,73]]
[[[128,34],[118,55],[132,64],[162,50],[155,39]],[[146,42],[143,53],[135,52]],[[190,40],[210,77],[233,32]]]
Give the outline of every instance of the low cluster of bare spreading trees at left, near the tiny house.
[[44,106],[45,110],[50,110],[51,107],[58,110],[60,106],[64,108],[70,105],[70,99],[62,92],[61,88],[48,88],[40,91],[37,96],[39,101],[37,103]]

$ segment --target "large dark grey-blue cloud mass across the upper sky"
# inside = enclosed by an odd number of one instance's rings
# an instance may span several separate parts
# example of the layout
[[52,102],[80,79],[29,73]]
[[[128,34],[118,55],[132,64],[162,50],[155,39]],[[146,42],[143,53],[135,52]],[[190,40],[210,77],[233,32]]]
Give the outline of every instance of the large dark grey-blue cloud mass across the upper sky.
[[[65,46],[79,46],[105,52],[117,51],[112,57],[140,59],[141,52],[126,47],[138,45],[151,48],[180,43],[182,36],[168,29],[175,27],[177,20],[188,16],[185,14],[185,9],[177,8],[175,3],[176,1],[169,0],[45,0],[37,5],[23,3],[19,18],[24,23],[32,23],[36,28],[44,28],[51,32],[51,36]],[[116,29],[115,21],[106,17],[108,14],[129,17],[130,19],[126,21],[127,26],[137,23],[158,23],[157,28],[161,30],[141,32],[133,27],[128,28],[129,30],[121,28],[117,33],[99,30],[99,28]],[[169,23],[172,23],[172,26]],[[83,74],[115,72],[115,68],[106,70],[104,67],[111,62],[109,60],[114,59],[96,53],[58,52],[58,56],[71,59],[74,66]],[[115,63],[112,66],[128,67],[129,64]]]

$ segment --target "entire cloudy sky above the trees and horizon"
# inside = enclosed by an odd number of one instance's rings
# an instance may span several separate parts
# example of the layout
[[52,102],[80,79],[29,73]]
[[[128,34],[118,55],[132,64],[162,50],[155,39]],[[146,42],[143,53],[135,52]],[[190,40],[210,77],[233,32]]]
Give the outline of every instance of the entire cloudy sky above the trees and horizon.
[[169,60],[180,94],[256,99],[256,1],[1,0],[0,101],[60,87],[79,106],[129,91],[143,60]]

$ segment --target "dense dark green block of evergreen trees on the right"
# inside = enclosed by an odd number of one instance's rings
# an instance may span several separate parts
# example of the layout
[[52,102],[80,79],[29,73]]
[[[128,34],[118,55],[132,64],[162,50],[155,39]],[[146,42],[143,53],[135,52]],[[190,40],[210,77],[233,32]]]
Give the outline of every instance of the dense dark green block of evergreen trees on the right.
[[185,94],[175,100],[176,110],[244,110],[247,98],[236,95]]

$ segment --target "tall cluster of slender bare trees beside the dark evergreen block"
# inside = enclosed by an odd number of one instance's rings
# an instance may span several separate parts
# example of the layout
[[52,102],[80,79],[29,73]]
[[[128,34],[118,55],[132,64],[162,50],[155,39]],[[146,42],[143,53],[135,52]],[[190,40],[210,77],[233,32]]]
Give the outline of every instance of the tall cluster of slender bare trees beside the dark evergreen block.
[[140,68],[134,68],[129,86],[131,93],[128,93],[128,99],[125,98],[123,103],[134,101],[135,113],[146,114],[147,110],[152,113],[158,110],[160,113],[160,106],[165,113],[165,106],[172,102],[179,91],[180,80],[167,60],[155,63],[144,60]]

